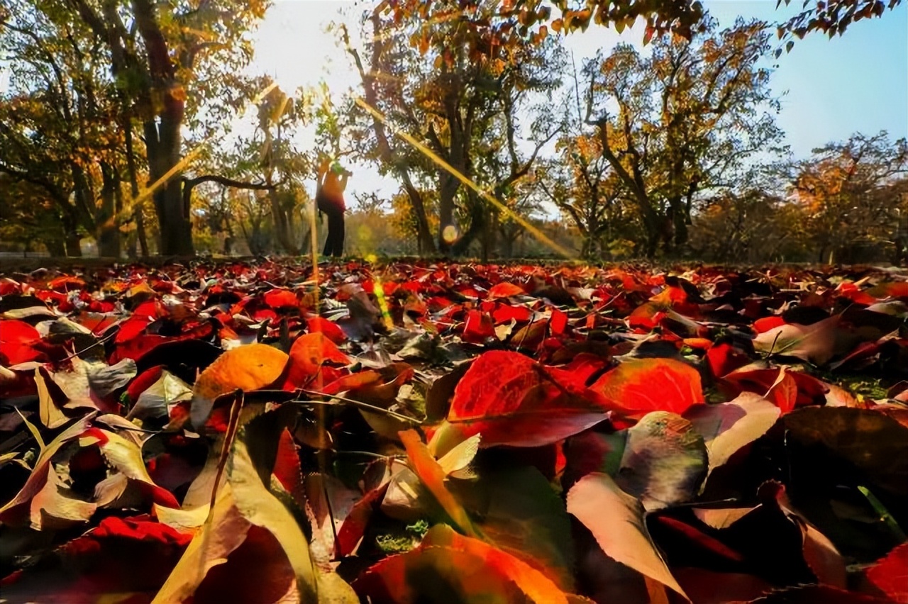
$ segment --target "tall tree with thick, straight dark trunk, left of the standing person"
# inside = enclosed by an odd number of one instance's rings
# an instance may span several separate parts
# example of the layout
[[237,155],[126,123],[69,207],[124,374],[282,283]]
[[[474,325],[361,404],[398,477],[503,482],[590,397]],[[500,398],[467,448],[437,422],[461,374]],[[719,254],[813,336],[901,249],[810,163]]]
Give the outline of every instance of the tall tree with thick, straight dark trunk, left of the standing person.
[[[182,130],[187,121],[218,122],[236,108],[239,100],[230,89],[240,83],[237,73],[252,57],[246,34],[268,3],[65,2],[104,44],[128,115],[142,123],[161,252],[192,255],[190,196],[183,190],[192,182],[183,178]],[[220,105],[205,103],[216,98]]]

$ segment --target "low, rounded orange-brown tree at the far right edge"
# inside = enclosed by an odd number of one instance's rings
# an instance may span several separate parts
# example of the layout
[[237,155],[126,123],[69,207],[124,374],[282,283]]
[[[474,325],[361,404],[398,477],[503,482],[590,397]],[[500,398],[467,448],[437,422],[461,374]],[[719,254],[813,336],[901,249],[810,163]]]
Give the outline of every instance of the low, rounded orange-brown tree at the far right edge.
[[908,141],[892,141],[886,132],[854,134],[814,150],[795,168],[791,193],[804,209],[816,261],[854,262],[862,248],[875,248],[870,253],[879,258],[881,245],[897,253],[896,231],[908,215]]

